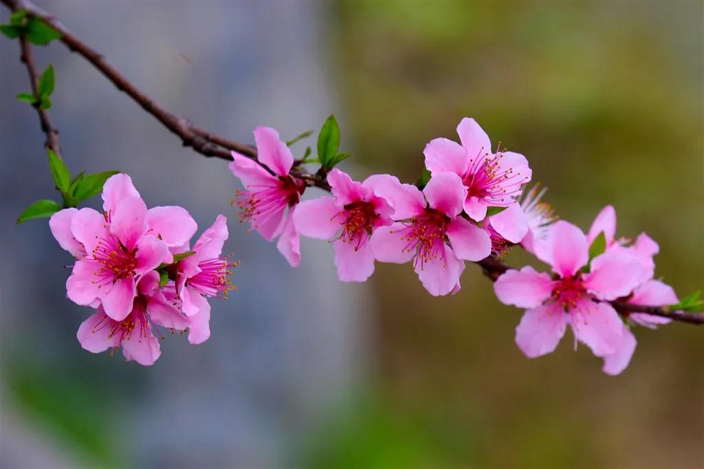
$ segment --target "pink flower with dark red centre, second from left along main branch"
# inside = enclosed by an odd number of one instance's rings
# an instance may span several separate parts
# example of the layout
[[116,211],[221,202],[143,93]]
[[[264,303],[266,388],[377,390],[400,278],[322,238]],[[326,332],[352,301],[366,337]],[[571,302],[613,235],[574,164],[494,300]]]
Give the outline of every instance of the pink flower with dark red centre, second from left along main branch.
[[364,282],[374,272],[368,242],[380,226],[391,225],[394,211],[374,188],[389,175],[373,175],[360,183],[333,169],[327,176],[332,197],[301,202],[293,215],[296,231],[315,239],[331,239],[337,276],[343,282]]

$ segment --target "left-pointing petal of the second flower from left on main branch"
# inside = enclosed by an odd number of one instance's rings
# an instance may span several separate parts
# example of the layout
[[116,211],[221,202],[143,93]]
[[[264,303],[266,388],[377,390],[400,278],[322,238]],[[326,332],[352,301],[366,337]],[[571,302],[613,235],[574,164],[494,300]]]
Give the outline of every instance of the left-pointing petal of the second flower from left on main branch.
[[303,201],[296,206],[294,214],[296,231],[314,239],[330,239],[342,228],[347,213],[335,204],[333,197]]

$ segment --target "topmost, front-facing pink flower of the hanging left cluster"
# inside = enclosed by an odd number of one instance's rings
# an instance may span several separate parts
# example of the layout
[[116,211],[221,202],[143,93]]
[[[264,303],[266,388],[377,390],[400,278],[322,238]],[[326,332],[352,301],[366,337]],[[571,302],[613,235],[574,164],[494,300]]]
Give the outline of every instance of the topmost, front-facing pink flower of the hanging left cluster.
[[115,321],[133,309],[139,280],[170,263],[169,246],[184,244],[196,223],[181,207],[146,209],[132,180],[110,177],[103,187],[104,214],[92,208],[55,213],[49,226],[58,243],[77,261],[66,282],[67,296],[97,307]]

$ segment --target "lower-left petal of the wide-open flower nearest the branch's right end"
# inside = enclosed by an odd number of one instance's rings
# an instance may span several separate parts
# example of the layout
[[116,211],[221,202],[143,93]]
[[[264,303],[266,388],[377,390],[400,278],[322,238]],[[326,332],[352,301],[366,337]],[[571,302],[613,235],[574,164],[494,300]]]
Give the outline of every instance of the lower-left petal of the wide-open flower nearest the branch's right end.
[[565,335],[569,315],[559,308],[538,306],[529,309],[516,327],[516,344],[528,358],[536,358],[555,350]]

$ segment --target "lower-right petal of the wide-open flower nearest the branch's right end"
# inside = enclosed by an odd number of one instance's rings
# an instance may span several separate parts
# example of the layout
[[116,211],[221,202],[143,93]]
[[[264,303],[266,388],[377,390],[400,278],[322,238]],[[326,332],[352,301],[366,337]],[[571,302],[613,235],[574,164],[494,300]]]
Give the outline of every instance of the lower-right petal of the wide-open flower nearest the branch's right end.
[[574,337],[596,356],[614,354],[622,342],[623,321],[608,303],[582,301],[570,314]]

